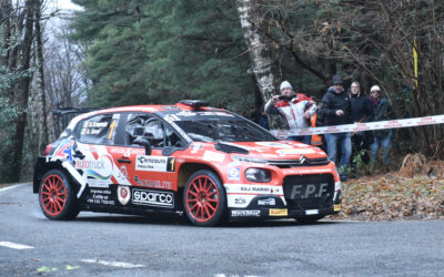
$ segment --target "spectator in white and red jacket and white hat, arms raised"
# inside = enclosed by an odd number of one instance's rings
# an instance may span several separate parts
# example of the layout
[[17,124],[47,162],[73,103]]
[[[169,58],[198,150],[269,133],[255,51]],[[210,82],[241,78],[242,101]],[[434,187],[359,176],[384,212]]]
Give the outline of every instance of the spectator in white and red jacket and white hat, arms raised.
[[[290,131],[309,127],[310,119],[316,112],[316,105],[305,94],[294,93],[287,81],[281,83],[281,95],[274,95],[265,104],[266,114],[282,116],[285,127]],[[287,140],[310,144],[311,135],[287,136]]]

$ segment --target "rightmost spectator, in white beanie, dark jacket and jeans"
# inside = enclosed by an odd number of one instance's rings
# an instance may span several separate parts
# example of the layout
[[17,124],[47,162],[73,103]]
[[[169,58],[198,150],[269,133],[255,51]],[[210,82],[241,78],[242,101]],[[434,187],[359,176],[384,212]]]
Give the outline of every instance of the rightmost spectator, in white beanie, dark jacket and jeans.
[[[382,98],[381,89],[379,85],[373,85],[370,90],[370,101],[374,105],[374,121],[386,121],[392,120],[393,110],[392,105],[387,100]],[[376,162],[377,152],[380,147],[383,147],[383,163],[389,164],[389,151],[392,147],[392,136],[393,132],[390,129],[385,130],[375,130],[373,132],[374,142],[371,145],[372,148],[372,162]]]

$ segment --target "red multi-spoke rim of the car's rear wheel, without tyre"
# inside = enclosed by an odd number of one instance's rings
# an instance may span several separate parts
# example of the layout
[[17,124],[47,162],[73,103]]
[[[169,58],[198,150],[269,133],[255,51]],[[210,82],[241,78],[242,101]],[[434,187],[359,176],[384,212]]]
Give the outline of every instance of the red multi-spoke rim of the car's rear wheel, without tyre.
[[51,174],[42,183],[40,197],[44,212],[58,216],[67,203],[67,185],[59,175]]

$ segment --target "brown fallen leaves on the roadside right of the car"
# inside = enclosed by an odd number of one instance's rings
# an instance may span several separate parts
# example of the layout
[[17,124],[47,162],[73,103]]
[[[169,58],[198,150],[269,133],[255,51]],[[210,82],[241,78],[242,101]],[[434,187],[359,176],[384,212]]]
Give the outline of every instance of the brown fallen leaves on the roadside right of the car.
[[[415,163],[417,165],[417,163]],[[342,212],[334,216],[353,220],[444,219],[444,161],[427,164],[430,171],[366,176],[342,184]],[[405,167],[404,167],[405,168]],[[411,173],[412,171],[408,171]],[[420,173],[420,174],[418,174]]]

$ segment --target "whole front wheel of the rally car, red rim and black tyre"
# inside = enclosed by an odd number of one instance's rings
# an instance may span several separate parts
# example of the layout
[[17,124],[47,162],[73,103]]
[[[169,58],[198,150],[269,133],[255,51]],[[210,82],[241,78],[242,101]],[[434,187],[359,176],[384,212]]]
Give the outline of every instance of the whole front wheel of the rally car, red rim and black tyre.
[[225,218],[226,196],[222,182],[211,171],[192,174],[183,192],[188,218],[198,226],[214,226]]

